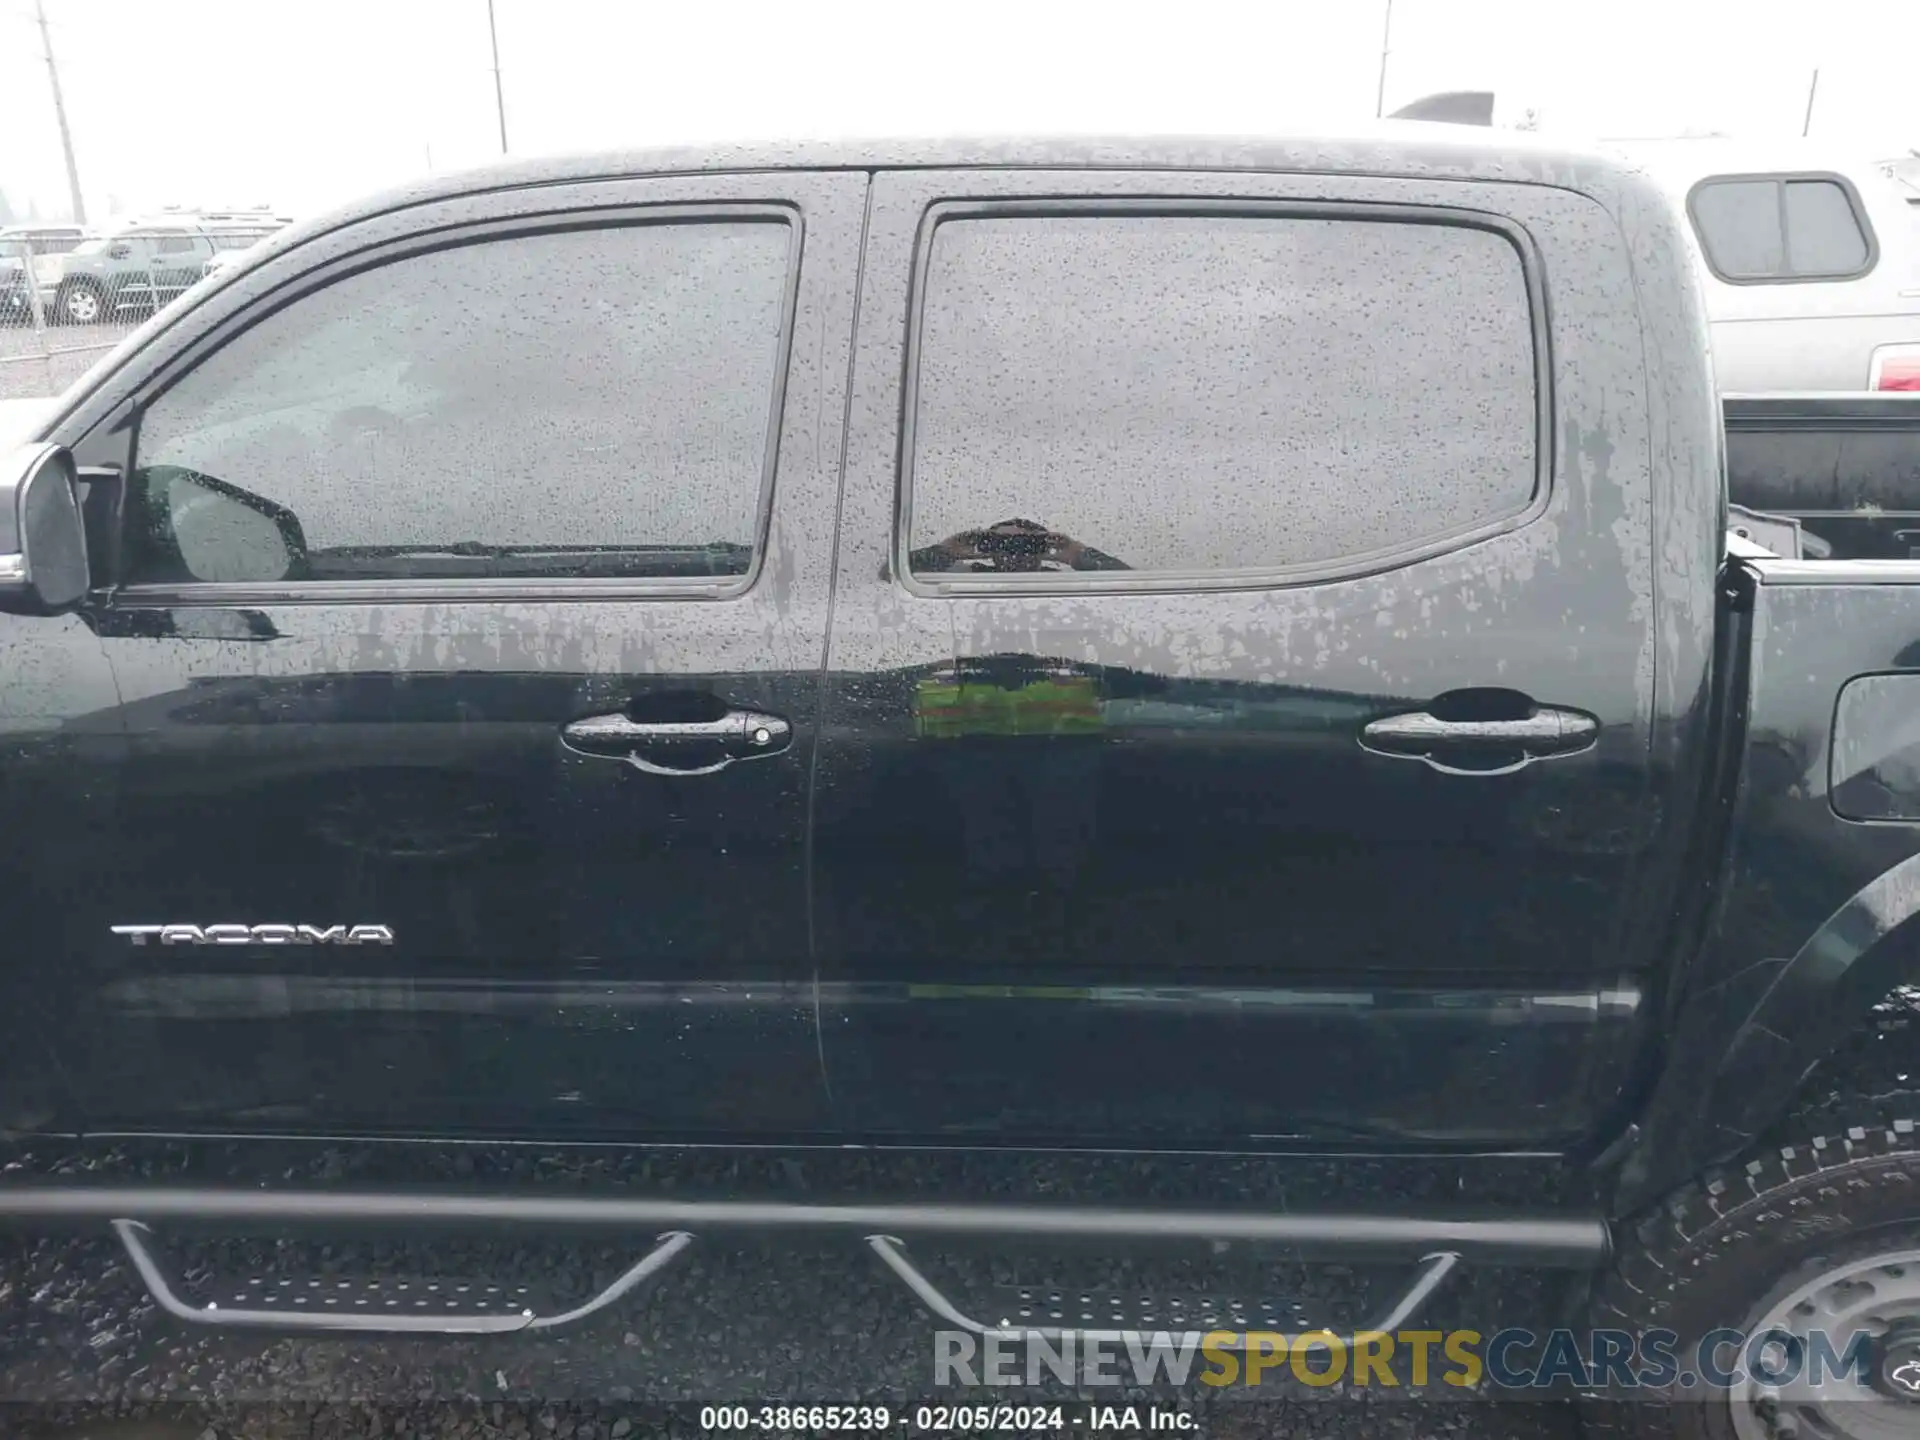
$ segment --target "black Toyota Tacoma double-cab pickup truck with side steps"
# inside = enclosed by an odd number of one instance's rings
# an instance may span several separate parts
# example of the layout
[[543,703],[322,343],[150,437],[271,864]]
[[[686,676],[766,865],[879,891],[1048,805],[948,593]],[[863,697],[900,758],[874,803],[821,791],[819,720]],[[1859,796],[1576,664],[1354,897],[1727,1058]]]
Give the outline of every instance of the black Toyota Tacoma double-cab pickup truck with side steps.
[[[442,179],[150,321],[0,480],[23,1154],[1584,1196],[6,1175],[0,1221],[111,1225],[180,1321],[551,1327],[808,1229],[1058,1336],[924,1250],[1248,1246],[1404,1260],[1382,1331],[1528,1265],[1636,1334],[1870,1332],[1845,1396],[1603,1425],[1920,1425],[1920,564],[1730,532],[1686,238],[1619,163],[1409,127]],[[476,1221],[657,1248],[561,1311],[292,1313],[148,1233]]]

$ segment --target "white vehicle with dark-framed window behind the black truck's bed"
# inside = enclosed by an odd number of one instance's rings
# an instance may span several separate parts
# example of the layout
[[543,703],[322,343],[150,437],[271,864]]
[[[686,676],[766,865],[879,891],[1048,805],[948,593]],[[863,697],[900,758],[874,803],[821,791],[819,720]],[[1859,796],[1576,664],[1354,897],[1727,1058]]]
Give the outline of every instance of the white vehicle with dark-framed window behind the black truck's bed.
[[1920,390],[1920,225],[1816,140],[1628,140],[1686,209],[1722,392]]

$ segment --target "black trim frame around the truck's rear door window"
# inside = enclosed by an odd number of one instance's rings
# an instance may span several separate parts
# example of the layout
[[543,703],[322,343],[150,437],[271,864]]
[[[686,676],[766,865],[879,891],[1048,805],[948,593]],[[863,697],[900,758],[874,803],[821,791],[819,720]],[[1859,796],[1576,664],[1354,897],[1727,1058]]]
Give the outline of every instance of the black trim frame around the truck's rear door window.
[[[1532,311],[1534,340],[1534,490],[1524,505],[1494,520],[1425,536],[1402,545],[1340,555],[1331,561],[1298,564],[1240,566],[1231,570],[1056,570],[1031,574],[916,576],[910,564],[914,522],[914,411],[920,401],[920,346],[925,321],[927,267],[933,234],[950,219],[1004,217],[1081,217],[1081,215],[1162,215],[1173,219],[1344,219],[1379,225],[1440,225],[1484,230],[1513,246],[1521,261],[1521,282]],[[1073,196],[1060,200],[937,200],[920,217],[914,236],[912,290],[906,309],[906,357],[900,372],[900,422],[895,451],[893,541],[887,557],[895,582],[912,595],[954,599],[962,595],[1098,595],[1286,589],[1334,580],[1359,580],[1419,564],[1438,555],[1476,545],[1494,536],[1521,530],[1542,515],[1553,499],[1553,348],[1544,269],[1528,230],[1505,215],[1455,205],[1382,204],[1365,200],[1258,200],[1204,196]]]

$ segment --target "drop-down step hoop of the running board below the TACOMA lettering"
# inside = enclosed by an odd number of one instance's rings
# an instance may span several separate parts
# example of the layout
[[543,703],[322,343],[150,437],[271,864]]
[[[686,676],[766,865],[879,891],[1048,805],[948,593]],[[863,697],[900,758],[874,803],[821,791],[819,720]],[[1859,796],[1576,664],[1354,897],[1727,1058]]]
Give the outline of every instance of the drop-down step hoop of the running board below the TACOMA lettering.
[[[422,1292],[407,1286],[382,1288],[378,1283],[353,1281],[309,1281],[284,1304],[273,1296],[280,1286],[250,1286],[257,1296],[242,1290],[242,1304],[221,1308],[219,1302],[190,1306],[175,1292],[173,1283],[159,1269],[154,1252],[148,1250],[146,1236],[152,1231],[136,1219],[115,1219],[113,1233],[127,1248],[127,1260],[140,1273],[154,1304],[175,1319],[188,1325],[217,1325],[225,1329],[250,1331],[349,1331],[355,1334],[386,1334],[407,1331],[413,1334],[511,1334],[516,1331],[553,1331],[561,1325],[584,1321],[616,1300],[632,1294],[637,1286],[666,1269],[680,1254],[693,1244],[685,1231],[668,1231],[645,1256],[628,1267],[612,1284],[586,1304],[557,1315],[536,1315],[532,1309],[501,1309],[495,1306],[511,1300],[490,1300],[486,1294],[463,1300],[459,1290],[467,1286],[438,1284],[422,1286]],[[401,1294],[401,1290],[407,1290]],[[426,1311],[426,1313],[422,1313]],[[488,1313],[492,1311],[492,1313]]]

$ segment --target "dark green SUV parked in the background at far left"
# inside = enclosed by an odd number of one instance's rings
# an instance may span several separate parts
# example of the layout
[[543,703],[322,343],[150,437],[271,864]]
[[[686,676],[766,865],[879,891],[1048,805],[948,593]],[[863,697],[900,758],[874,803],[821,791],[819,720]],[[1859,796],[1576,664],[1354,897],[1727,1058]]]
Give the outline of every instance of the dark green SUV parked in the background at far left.
[[142,221],[90,238],[65,255],[48,313],[65,324],[94,324],[159,309],[196,284],[215,255],[246,250],[286,225],[265,213],[198,213]]

